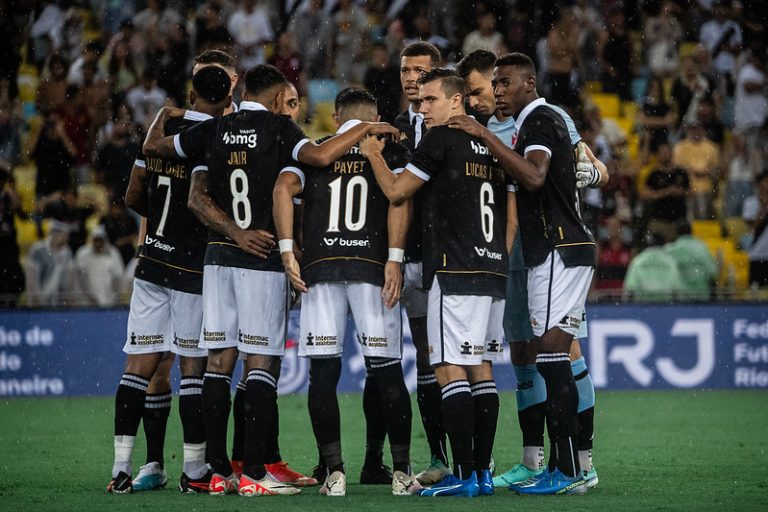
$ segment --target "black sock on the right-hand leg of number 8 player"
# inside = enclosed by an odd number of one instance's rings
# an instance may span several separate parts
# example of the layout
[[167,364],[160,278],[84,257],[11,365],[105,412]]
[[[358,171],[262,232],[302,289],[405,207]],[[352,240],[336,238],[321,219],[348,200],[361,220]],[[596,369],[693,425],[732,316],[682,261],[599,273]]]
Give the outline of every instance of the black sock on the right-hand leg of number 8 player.
[[266,475],[269,432],[274,423],[277,401],[277,379],[262,368],[248,372],[245,382],[245,459],[243,473],[255,480]]

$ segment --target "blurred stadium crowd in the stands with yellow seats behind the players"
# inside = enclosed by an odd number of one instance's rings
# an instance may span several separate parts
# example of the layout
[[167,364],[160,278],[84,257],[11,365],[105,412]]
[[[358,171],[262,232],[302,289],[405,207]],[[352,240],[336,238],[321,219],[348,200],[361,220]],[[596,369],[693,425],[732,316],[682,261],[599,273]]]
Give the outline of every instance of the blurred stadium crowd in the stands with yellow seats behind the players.
[[534,57],[540,93],[611,174],[582,197],[600,241],[593,297],[755,296],[768,286],[757,4],[4,0],[0,305],[125,300],[139,232],[123,201],[131,167],[157,110],[183,106],[194,55],[232,52],[241,74],[275,65],[320,136],[348,85],[378,98],[383,121],[403,110],[398,56],[415,40],[448,67],[478,48]]

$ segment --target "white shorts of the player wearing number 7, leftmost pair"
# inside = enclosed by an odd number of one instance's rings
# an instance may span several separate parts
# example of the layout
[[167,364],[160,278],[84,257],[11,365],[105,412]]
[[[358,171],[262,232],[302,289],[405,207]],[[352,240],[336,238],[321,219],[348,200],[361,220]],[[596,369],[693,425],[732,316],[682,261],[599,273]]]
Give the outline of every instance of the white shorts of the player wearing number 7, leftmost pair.
[[134,279],[123,352],[206,357],[208,351],[200,347],[202,320],[201,295]]

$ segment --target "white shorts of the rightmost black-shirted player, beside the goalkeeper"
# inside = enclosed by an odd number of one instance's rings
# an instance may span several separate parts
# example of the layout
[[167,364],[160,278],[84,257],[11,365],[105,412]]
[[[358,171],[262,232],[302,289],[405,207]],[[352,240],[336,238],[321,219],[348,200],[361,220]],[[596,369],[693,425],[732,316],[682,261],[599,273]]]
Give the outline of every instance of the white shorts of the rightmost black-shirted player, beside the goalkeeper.
[[528,309],[536,336],[553,327],[579,334],[594,273],[592,267],[566,267],[557,251],[528,270]]

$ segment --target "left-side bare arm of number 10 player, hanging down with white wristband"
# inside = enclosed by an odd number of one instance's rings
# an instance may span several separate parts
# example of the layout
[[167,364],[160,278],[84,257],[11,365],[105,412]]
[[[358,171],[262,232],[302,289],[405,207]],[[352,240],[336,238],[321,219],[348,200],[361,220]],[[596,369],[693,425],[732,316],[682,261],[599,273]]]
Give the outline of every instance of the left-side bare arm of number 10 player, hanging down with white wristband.
[[298,246],[294,244],[293,239],[293,199],[303,189],[304,173],[297,167],[283,169],[272,190],[272,216],[275,219],[280,259],[283,261],[285,274],[294,288],[306,292],[307,286],[301,279],[301,267],[295,252]]

